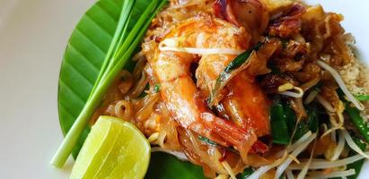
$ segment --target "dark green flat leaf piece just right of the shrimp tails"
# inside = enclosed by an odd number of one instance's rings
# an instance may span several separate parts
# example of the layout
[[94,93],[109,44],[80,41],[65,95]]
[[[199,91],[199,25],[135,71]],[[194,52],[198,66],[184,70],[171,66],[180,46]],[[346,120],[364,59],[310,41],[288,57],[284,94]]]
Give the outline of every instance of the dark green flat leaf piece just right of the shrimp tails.
[[290,135],[287,127],[287,116],[283,105],[277,101],[270,108],[270,125],[272,129],[273,142],[288,144]]

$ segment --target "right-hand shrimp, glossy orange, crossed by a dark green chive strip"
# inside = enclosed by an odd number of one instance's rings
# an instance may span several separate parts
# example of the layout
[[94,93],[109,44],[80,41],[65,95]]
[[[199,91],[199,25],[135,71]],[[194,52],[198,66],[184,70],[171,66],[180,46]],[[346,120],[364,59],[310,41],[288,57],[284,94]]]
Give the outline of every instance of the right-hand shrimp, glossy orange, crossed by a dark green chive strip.
[[[198,88],[206,96],[214,88],[215,81],[235,55],[206,55],[198,64],[196,71]],[[242,129],[252,129],[258,136],[270,133],[268,118],[268,99],[254,77],[240,72],[224,88],[223,105],[226,115]]]

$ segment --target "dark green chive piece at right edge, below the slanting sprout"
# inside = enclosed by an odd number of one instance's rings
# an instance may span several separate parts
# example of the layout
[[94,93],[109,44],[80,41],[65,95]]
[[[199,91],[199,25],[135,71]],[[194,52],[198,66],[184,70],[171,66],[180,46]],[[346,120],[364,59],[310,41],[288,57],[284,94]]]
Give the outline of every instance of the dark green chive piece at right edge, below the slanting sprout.
[[360,115],[360,111],[356,107],[350,107],[348,102],[345,103],[345,109],[353,124],[355,124],[356,128],[363,135],[365,141],[369,142],[369,127]]

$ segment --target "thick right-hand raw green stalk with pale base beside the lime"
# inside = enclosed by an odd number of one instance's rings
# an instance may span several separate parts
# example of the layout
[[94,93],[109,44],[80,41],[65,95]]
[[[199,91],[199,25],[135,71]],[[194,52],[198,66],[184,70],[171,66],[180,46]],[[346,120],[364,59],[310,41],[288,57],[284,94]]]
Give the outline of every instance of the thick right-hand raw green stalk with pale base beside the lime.
[[[149,27],[151,21],[154,19],[156,13],[158,13],[162,9],[163,5],[166,3],[167,1],[164,0],[158,5],[158,0],[154,0],[151,4],[147,6],[145,12],[142,13],[141,18],[137,21],[134,27],[134,29],[137,29],[136,26],[138,26],[138,29],[140,31],[134,31],[136,33],[133,33],[131,31],[128,36],[134,36],[134,40],[130,43],[130,46],[126,50],[121,51],[122,55],[119,55],[121,56],[119,57],[119,60],[113,59],[110,61],[110,63],[115,64],[108,65],[108,69],[105,71],[103,77],[101,78],[101,82],[96,87],[96,90],[93,91],[91,98],[87,100],[81,114],[78,115],[75,124],[73,124],[70,131],[66,134],[65,140],[57,150],[54,158],[51,160],[51,164],[53,166],[64,166],[64,164],[66,163],[66,159],[75,148],[75,143],[80,138],[81,133],[83,132],[86,124],[88,124],[89,120],[91,119],[93,112],[97,107],[99,107],[101,100],[105,96],[105,93],[109,89],[112,81],[115,80],[116,76],[121,71],[124,64],[127,63],[127,60],[133,54],[137,45],[144,37],[145,31]],[[111,70],[109,69],[109,66],[111,66]]]

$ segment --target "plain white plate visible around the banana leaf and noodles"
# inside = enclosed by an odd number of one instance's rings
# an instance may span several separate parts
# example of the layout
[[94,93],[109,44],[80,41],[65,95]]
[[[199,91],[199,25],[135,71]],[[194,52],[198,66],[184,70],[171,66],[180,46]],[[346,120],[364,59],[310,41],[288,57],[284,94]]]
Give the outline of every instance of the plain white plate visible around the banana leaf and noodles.
[[[67,178],[71,161],[64,170],[48,165],[62,141],[57,80],[66,41],[92,3],[0,0],[0,178]],[[345,15],[343,25],[369,57],[369,1],[321,4]],[[368,163],[363,171],[367,178]]]

